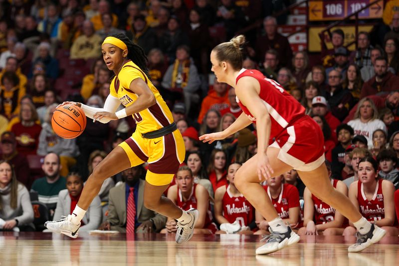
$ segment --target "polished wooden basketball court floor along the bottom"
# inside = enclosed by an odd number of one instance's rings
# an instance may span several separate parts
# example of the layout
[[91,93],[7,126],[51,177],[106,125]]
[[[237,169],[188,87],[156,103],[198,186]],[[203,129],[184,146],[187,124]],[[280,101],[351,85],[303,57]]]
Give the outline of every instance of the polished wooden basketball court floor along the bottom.
[[255,256],[260,236],[195,235],[178,245],[174,235],[126,236],[81,233],[70,239],[51,233],[0,233],[1,266],[52,265],[168,265],[168,266],[378,266],[399,261],[399,238],[373,245],[362,253],[348,254],[355,237],[302,237],[299,244],[269,256]]

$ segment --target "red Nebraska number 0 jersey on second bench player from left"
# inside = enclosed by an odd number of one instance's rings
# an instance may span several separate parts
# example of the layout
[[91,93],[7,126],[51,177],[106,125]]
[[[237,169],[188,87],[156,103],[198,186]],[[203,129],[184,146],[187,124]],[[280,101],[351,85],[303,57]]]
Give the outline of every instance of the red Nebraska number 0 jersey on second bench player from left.
[[226,185],[226,192],[223,195],[223,217],[232,224],[238,221],[241,226],[248,226],[253,220],[254,208],[241,194],[234,197],[229,191],[230,185]]

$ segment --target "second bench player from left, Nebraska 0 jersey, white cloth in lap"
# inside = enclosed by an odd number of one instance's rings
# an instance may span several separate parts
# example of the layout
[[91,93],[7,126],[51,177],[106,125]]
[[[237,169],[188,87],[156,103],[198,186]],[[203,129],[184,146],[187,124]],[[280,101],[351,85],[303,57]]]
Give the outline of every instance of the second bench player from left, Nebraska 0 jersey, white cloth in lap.
[[234,186],[235,172],[241,163],[232,163],[227,169],[228,184],[216,189],[215,219],[220,224],[216,234],[252,234],[256,228],[255,209]]

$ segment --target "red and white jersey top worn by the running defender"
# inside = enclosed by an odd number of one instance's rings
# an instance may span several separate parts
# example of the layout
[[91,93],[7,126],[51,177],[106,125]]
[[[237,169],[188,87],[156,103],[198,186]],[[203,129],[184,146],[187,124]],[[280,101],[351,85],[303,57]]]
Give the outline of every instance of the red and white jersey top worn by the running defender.
[[[263,74],[254,69],[241,69],[235,81],[244,76],[251,76],[258,80],[260,84],[259,97],[263,100],[271,119],[270,139],[279,135],[288,125],[305,115],[305,108],[283,87],[272,79],[268,79]],[[236,97],[238,105],[247,117],[256,123],[256,119]]]

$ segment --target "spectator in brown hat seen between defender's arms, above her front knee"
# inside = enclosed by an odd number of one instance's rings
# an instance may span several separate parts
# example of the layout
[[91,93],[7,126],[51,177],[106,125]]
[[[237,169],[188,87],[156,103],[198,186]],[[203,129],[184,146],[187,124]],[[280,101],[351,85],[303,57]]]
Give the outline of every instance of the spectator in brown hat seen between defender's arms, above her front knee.
[[256,136],[248,128],[238,131],[234,161],[245,163],[256,153]]

